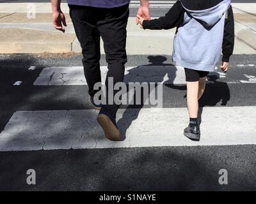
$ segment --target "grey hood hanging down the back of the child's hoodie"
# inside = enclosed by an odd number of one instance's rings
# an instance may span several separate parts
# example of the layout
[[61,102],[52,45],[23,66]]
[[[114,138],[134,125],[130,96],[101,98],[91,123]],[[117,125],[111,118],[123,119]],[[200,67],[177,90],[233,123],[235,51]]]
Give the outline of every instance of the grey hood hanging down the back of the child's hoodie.
[[231,0],[180,0],[184,10],[191,17],[202,22],[205,27],[212,27],[225,15]]

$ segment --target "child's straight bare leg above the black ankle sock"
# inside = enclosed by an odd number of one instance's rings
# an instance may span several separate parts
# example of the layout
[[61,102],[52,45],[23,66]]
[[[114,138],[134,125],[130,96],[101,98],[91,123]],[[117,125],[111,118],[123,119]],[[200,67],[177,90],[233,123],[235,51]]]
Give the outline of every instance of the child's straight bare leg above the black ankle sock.
[[187,82],[188,112],[192,119],[196,119],[198,116],[198,90],[199,82]]

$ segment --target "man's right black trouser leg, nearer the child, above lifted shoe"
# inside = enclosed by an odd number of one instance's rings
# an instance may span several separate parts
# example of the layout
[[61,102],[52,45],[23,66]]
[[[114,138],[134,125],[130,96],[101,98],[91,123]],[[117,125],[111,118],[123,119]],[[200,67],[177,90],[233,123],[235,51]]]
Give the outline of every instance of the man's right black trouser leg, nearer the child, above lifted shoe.
[[[106,10],[105,10],[106,11]],[[108,73],[106,77],[107,91],[114,94],[117,91],[108,89],[108,78],[113,78],[113,84],[117,82],[124,82],[124,69],[127,62],[126,55],[126,38],[127,38],[127,20],[129,17],[129,6],[122,6],[120,8],[113,8],[106,11],[104,19],[98,22],[100,36],[104,42],[104,50],[106,53],[106,61],[108,62]],[[108,94],[107,94],[108,96]],[[110,99],[112,102],[112,100]],[[108,109],[116,114],[118,110],[117,105],[102,106],[103,109]]]

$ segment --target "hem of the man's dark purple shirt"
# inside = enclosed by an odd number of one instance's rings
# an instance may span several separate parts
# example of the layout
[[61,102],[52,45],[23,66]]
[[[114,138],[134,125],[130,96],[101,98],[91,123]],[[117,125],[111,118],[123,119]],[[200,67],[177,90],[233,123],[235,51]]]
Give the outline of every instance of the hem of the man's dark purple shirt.
[[97,8],[115,8],[129,4],[131,0],[67,0],[68,4],[92,6]]

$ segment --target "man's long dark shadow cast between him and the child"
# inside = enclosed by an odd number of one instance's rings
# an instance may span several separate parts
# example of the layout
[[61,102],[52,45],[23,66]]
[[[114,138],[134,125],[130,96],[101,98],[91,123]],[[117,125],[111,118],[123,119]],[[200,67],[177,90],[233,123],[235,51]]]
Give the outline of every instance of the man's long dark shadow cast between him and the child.
[[[136,91],[134,91],[131,103],[125,109],[124,113],[122,114],[122,118],[120,118],[120,120],[118,120],[117,122],[117,126],[120,127],[120,131],[122,133],[122,140],[125,140],[127,129],[131,126],[132,121],[138,118],[141,108],[143,108],[143,106],[145,107],[147,106],[148,108],[150,108],[150,99],[148,98],[148,96],[150,96],[150,94],[154,94],[154,96],[156,97],[156,92],[150,93],[149,83],[160,82],[161,84],[173,84],[173,81],[176,77],[177,68],[173,66],[173,64],[164,63],[165,61],[167,61],[167,58],[164,56],[150,55],[148,56],[148,62],[150,64],[141,65],[141,66],[127,70],[128,74],[125,75],[124,81],[133,82],[133,83],[140,82],[140,84],[142,82],[147,82],[148,94],[147,96],[144,96],[143,90],[142,90],[143,88],[141,88],[141,94],[139,96],[140,104],[136,104],[135,99],[136,97],[138,97],[138,94],[136,93]],[[145,105],[145,101],[147,99],[148,99],[149,105]]]

